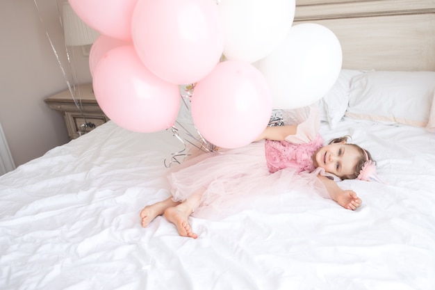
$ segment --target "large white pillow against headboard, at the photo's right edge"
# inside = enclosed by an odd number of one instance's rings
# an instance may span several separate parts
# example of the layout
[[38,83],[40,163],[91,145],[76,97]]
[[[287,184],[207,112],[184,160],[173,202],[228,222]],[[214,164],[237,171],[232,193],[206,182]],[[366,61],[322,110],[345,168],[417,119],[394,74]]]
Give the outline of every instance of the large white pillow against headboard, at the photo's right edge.
[[434,92],[435,72],[367,72],[352,79],[345,115],[425,127]]

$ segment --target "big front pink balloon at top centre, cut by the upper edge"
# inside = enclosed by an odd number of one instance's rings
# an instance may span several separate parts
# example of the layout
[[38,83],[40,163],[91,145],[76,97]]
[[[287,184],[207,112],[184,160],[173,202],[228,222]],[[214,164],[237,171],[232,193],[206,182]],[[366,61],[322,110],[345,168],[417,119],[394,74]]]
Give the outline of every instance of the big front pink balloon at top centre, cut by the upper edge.
[[224,38],[210,0],[139,0],[133,44],[142,62],[170,83],[195,83],[219,63]]

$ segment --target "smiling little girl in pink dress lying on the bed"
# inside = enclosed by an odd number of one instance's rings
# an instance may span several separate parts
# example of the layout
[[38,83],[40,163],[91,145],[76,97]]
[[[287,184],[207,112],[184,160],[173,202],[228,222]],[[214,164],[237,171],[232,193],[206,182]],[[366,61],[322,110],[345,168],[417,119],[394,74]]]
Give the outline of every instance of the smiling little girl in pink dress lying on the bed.
[[256,142],[243,148],[202,154],[170,170],[172,197],[142,209],[142,227],[164,214],[181,236],[196,239],[188,223],[194,211],[219,209],[225,200],[243,194],[267,194],[301,184],[314,187],[345,209],[359,207],[356,193],[342,190],[336,182],[368,180],[365,175],[375,166],[370,153],[347,143],[347,136],[323,146],[317,108],[295,113],[297,125],[267,127]]

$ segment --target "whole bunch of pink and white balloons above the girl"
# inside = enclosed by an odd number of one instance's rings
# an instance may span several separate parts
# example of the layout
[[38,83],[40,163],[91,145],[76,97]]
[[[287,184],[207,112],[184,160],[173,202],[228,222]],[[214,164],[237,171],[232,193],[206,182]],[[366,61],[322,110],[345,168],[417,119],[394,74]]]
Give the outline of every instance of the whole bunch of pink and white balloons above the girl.
[[295,0],[69,3],[101,33],[89,60],[97,102],[132,131],[171,128],[179,86],[195,83],[195,127],[214,145],[241,147],[261,134],[272,108],[320,99],[341,67],[334,33],[292,27]]

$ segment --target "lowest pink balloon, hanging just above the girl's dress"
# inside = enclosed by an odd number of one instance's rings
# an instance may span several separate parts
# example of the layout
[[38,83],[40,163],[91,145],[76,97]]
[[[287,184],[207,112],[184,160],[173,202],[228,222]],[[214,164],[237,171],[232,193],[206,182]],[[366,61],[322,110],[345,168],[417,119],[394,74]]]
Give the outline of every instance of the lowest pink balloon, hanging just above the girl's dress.
[[198,131],[214,145],[242,147],[268,125],[272,94],[263,74],[242,61],[225,61],[199,81],[191,99]]

